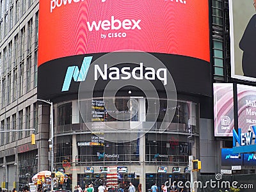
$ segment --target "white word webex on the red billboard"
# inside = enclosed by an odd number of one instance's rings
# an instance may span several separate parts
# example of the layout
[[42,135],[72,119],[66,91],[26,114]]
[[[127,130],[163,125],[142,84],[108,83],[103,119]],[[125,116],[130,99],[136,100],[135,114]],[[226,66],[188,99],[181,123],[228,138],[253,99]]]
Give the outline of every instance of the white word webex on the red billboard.
[[87,22],[87,26],[89,31],[93,31],[95,28],[96,31],[99,31],[100,28],[102,28],[104,31],[108,31],[109,29],[112,30],[118,30],[118,29],[141,29],[140,27],[140,22],[141,20],[134,20],[134,19],[124,19],[124,20],[119,20],[115,19],[114,16],[111,16],[111,20],[99,20],[96,22],[93,20],[92,24],[90,22]]

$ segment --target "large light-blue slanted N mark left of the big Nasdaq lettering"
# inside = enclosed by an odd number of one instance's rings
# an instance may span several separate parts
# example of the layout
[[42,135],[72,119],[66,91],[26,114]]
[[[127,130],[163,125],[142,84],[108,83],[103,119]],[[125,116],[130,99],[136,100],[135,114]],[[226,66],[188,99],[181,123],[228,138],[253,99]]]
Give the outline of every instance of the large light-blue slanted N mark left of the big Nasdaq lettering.
[[87,72],[89,70],[91,61],[92,61],[92,56],[85,57],[80,71],[77,66],[68,67],[61,92],[67,92],[69,90],[69,86],[72,81],[72,77],[75,82],[81,82],[86,79]]

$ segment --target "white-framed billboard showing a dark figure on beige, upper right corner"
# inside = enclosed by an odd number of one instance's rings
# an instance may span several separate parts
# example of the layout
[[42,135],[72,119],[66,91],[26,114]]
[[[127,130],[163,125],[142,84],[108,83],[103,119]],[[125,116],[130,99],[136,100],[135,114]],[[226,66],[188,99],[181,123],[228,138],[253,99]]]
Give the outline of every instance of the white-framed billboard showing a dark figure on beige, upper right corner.
[[256,81],[256,33],[253,1],[229,0],[232,77]]

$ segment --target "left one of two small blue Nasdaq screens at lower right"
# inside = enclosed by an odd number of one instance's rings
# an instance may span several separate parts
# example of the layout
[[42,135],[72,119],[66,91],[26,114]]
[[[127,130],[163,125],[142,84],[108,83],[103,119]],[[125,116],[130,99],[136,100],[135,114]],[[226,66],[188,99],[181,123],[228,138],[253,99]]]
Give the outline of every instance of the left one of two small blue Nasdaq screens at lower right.
[[232,148],[221,148],[221,165],[243,165],[243,154],[233,154]]

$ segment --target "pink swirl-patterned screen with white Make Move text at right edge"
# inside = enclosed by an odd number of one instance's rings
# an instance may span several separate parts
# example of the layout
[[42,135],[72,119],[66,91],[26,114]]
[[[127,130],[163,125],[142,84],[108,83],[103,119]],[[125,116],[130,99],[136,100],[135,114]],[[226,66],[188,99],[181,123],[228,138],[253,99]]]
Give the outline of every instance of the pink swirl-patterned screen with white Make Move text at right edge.
[[237,116],[238,127],[248,132],[256,124],[256,88],[237,84]]

